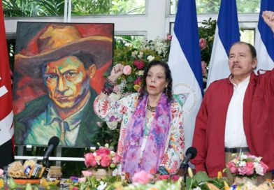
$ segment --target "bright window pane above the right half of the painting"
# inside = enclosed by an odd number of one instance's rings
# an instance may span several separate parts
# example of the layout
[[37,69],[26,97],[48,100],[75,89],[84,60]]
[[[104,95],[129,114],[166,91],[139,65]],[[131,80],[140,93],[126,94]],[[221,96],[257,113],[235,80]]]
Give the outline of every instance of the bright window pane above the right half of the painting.
[[145,14],[145,0],[72,0],[71,15]]

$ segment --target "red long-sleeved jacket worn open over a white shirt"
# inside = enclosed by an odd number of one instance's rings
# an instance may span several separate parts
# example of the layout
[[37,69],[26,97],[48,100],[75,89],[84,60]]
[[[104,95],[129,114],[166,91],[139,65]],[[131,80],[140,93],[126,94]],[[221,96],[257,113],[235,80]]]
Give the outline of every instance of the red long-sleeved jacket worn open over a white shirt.
[[[198,154],[191,162],[196,170],[217,176],[225,168],[226,112],[233,94],[229,78],[212,82],[196,117],[193,146]],[[243,125],[250,153],[262,156],[274,169],[274,69],[250,76],[243,102]]]

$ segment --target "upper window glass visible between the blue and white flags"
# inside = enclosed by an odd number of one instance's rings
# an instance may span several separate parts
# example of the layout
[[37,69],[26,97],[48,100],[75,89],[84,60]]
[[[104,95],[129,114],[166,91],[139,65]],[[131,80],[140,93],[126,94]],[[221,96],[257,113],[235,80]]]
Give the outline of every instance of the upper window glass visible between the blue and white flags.
[[[219,13],[220,0],[196,0],[198,14]],[[260,0],[236,0],[238,13],[259,13]],[[171,0],[171,14],[177,11],[178,0]]]

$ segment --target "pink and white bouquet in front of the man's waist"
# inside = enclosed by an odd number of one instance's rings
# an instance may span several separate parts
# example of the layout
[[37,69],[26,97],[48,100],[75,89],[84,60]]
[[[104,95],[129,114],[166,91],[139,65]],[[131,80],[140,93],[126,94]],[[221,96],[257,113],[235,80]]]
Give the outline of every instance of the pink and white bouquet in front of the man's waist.
[[261,157],[241,152],[236,155],[235,159],[229,161],[226,167],[236,177],[257,177],[258,175],[265,175],[268,169],[268,166],[261,159]]

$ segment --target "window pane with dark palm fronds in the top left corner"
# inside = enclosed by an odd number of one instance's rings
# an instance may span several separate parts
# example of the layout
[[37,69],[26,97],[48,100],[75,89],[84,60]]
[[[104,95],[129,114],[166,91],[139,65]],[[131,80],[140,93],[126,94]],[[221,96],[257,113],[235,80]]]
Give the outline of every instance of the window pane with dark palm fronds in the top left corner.
[[64,16],[64,0],[3,0],[5,17]]

